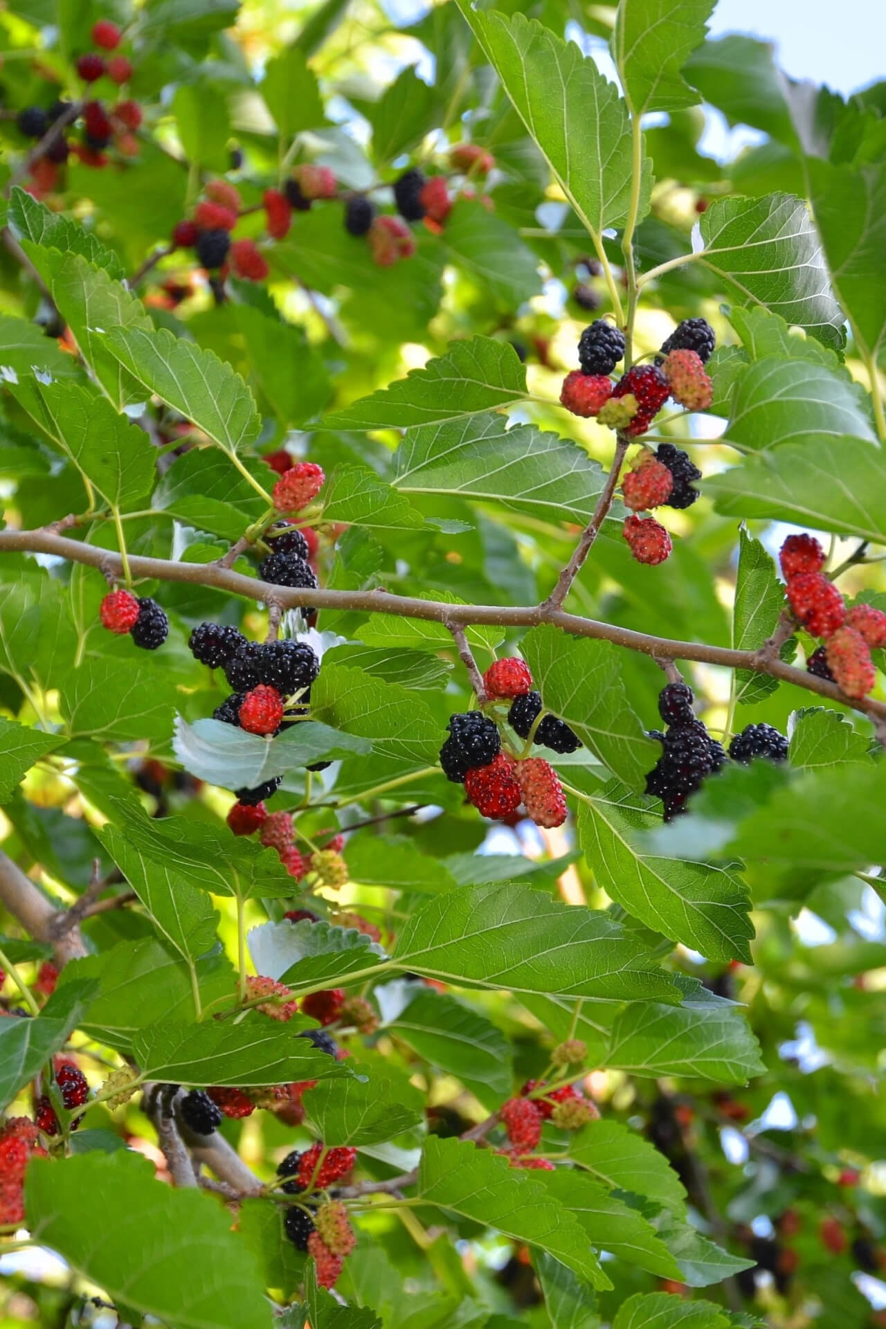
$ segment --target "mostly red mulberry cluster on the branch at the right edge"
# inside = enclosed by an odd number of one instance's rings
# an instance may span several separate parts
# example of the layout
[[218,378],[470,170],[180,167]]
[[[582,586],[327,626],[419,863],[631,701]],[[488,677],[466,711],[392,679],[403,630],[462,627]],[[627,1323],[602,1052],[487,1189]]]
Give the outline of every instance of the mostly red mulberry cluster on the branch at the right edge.
[[788,536],[778,561],[793,617],[812,637],[824,638],[809,655],[806,670],[861,700],[877,680],[870,653],[886,646],[886,614],[873,605],[846,609],[840,590],[822,573],[825,552],[813,536]]

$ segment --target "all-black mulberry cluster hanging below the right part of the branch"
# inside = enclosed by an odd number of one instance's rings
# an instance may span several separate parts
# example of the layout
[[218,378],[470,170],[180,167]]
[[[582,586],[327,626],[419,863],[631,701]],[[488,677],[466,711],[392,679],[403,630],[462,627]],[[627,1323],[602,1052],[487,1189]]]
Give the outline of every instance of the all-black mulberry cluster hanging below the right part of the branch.
[[[712,739],[704,723],[692,711],[692,688],[688,683],[668,683],[659,694],[659,714],[667,731],[652,730],[651,739],[662,744],[662,756],[646,777],[646,792],[664,805],[664,820],[685,812],[689,795],[709,776],[723,769],[727,754]],[[733,762],[748,764],[754,758],[786,762],[788,739],[770,724],[748,724],[729,744]]]

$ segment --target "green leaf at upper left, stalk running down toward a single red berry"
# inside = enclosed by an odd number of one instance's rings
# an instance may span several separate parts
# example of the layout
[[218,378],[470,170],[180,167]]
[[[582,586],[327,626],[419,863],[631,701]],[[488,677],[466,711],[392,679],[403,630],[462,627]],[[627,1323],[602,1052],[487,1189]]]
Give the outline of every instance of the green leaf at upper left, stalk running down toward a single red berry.
[[246,383],[213,351],[166,328],[112,328],[108,351],[149,392],[179,411],[228,453],[258,437],[260,421]]

